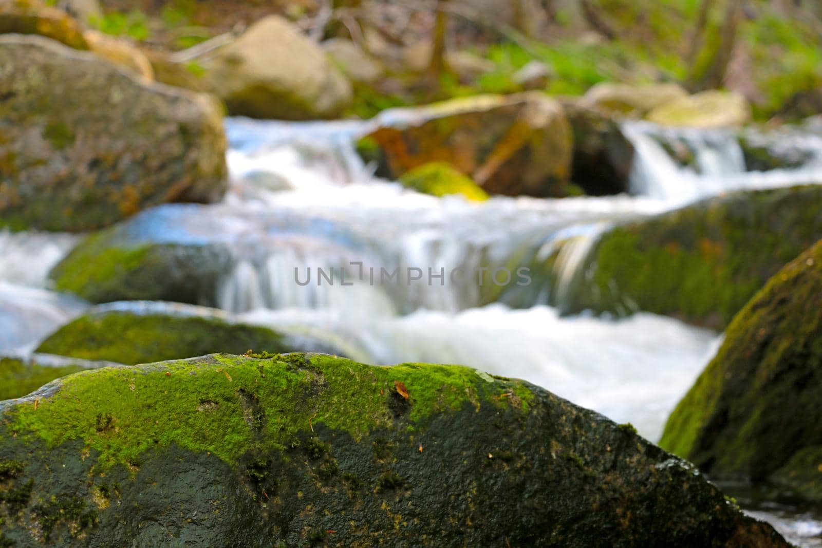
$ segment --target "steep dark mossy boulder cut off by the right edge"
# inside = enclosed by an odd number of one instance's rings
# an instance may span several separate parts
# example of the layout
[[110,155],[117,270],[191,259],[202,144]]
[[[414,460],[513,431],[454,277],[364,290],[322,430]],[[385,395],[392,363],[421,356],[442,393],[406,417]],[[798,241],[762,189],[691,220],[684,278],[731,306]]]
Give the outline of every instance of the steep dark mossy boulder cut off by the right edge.
[[773,481],[822,501],[822,242],[733,320],[660,444],[712,477]]

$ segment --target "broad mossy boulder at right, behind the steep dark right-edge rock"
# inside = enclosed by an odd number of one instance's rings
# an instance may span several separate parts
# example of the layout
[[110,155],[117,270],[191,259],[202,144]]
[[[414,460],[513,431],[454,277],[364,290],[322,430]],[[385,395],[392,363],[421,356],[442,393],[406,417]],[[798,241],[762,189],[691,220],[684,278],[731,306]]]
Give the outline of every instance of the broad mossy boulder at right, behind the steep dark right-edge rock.
[[566,311],[649,311],[723,329],[787,262],[822,237],[822,187],[740,191],[613,228]]

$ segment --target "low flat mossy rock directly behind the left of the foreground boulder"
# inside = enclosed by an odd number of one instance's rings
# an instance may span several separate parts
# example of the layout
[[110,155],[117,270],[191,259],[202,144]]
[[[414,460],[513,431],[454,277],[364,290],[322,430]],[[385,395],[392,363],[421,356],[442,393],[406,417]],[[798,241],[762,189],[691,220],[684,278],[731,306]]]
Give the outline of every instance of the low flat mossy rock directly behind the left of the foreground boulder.
[[126,365],[215,352],[333,352],[329,343],[237,323],[223,312],[163,302],[123,302],[92,309],[63,325],[37,352]]

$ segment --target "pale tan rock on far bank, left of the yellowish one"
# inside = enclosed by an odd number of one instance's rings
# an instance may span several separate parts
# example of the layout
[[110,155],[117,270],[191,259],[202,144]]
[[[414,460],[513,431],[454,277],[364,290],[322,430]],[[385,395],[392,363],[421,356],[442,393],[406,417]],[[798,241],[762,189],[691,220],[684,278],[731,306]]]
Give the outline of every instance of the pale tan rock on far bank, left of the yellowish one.
[[688,92],[678,84],[603,83],[588,90],[584,96],[584,104],[616,116],[641,118],[654,108],[687,96]]

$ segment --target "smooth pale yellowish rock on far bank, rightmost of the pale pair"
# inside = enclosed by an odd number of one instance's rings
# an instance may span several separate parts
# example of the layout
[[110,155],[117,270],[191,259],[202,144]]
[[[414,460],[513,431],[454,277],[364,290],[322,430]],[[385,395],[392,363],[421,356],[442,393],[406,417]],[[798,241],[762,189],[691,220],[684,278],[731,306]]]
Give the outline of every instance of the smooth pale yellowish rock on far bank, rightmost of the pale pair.
[[663,126],[716,128],[744,126],[750,117],[744,95],[712,90],[667,101],[653,108],[646,119]]

